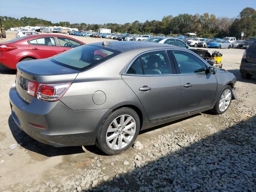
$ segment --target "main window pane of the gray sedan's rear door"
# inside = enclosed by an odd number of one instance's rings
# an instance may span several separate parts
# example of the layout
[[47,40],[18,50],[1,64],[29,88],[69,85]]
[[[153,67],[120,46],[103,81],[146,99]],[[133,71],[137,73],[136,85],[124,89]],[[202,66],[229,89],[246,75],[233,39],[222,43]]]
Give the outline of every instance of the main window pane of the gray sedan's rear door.
[[172,74],[166,51],[150,52],[140,56],[144,74]]

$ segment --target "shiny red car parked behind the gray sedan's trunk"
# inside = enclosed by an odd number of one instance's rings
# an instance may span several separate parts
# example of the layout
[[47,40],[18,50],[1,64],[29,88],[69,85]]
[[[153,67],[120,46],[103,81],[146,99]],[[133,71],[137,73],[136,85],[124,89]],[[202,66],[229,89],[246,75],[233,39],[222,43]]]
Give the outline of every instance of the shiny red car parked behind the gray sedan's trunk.
[[[48,58],[84,44],[74,38],[56,34],[23,36],[0,42],[0,65],[16,69],[20,61]],[[103,53],[100,55],[105,56]]]

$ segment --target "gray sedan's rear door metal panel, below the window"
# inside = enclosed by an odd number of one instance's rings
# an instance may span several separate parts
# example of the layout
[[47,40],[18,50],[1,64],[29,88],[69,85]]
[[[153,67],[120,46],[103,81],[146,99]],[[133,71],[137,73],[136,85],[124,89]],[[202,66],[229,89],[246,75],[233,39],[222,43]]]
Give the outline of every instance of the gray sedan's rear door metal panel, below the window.
[[[177,74],[166,76],[122,75],[142,103],[150,121],[171,118],[178,114],[180,79]],[[151,88],[143,91],[140,88]]]

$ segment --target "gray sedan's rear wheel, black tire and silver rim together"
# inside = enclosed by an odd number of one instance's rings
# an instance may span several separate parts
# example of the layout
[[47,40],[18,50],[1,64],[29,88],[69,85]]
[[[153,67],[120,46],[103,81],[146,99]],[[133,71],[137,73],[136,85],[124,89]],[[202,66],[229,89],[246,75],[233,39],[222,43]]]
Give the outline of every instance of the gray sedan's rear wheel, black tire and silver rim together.
[[96,145],[106,154],[120,154],[132,146],[139,131],[138,114],[132,108],[119,108],[112,111],[100,125]]

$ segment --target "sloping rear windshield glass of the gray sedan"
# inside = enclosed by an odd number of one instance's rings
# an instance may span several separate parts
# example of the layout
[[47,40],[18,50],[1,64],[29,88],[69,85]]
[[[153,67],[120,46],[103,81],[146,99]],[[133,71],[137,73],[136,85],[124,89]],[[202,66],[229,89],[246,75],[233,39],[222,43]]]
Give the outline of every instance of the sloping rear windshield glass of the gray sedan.
[[118,53],[120,52],[100,46],[84,45],[53,56],[50,60],[68,68],[85,70]]

